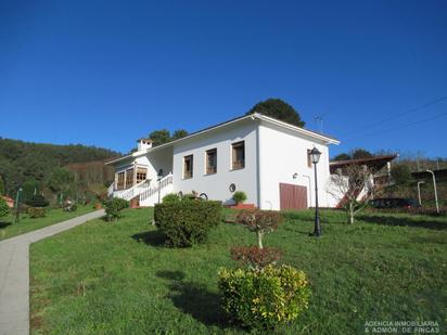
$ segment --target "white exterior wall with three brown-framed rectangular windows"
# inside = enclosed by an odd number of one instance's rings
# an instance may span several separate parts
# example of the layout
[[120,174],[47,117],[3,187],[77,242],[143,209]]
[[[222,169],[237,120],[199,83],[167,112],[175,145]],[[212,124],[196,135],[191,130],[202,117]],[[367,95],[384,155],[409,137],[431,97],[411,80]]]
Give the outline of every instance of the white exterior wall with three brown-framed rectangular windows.
[[[174,192],[204,192],[209,199],[232,204],[229,186],[234,183],[235,191],[246,193],[246,203],[257,204],[257,125],[253,120],[245,120],[235,127],[229,125],[177,143],[174,147]],[[245,167],[232,170],[231,144],[240,141],[245,141]],[[212,149],[217,149],[217,172],[205,175],[205,152]],[[188,155],[193,155],[193,177],[183,179],[183,157]]]

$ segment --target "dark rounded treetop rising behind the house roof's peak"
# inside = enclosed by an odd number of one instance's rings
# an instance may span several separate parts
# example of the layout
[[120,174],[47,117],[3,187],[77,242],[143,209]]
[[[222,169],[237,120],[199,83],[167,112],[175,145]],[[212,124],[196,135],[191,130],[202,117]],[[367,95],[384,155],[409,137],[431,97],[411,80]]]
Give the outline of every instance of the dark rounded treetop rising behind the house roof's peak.
[[304,127],[305,125],[298,112],[281,99],[267,99],[266,101],[261,101],[254,105],[246,115],[253,113],[270,116],[298,127]]

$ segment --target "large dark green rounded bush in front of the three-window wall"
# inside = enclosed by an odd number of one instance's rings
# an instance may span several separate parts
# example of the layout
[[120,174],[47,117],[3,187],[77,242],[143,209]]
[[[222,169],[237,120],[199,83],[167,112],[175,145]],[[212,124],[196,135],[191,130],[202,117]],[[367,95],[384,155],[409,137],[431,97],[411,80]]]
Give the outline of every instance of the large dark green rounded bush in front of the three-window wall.
[[220,202],[162,203],[155,205],[154,220],[167,246],[186,247],[206,240],[219,223],[220,211]]

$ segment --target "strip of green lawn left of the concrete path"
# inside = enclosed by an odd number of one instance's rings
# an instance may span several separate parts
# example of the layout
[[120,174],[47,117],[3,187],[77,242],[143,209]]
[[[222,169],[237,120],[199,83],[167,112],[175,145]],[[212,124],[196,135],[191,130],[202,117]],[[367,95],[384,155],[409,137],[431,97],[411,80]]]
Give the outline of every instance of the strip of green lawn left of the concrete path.
[[91,206],[79,206],[76,211],[63,211],[62,209],[48,209],[47,217],[31,219],[28,215],[21,215],[18,223],[14,223],[13,215],[0,219],[0,241],[10,239],[23,233],[30,232],[47,226],[59,223],[74,217],[93,211]]

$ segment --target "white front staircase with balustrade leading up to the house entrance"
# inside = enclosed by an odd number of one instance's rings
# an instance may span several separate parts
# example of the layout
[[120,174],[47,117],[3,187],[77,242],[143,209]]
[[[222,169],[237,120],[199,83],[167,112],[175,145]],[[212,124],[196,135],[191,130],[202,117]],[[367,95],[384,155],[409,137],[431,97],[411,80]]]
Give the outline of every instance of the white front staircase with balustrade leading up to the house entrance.
[[173,192],[173,173],[163,177],[158,181],[144,180],[135,186],[112,192],[114,197],[120,197],[126,201],[131,201],[136,197],[139,199],[139,205],[142,207],[153,206],[157,204],[163,196]]

